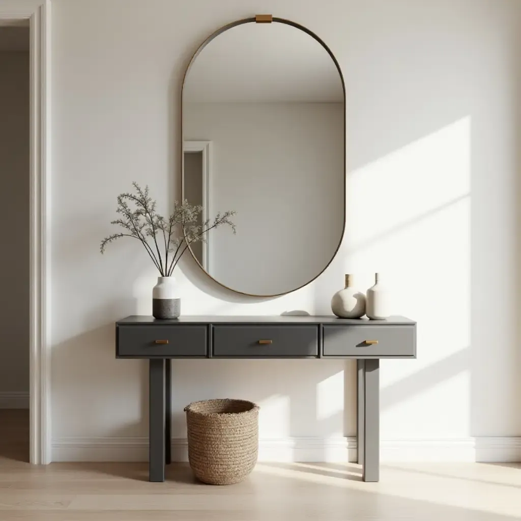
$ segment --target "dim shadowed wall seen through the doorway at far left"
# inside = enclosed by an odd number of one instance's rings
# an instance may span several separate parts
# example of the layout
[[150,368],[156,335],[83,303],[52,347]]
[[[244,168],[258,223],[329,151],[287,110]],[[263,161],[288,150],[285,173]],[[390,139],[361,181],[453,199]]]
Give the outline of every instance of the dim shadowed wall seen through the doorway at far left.
[[28,407],[29,53],[23,51],[0,51],[0,182],[0,408]]

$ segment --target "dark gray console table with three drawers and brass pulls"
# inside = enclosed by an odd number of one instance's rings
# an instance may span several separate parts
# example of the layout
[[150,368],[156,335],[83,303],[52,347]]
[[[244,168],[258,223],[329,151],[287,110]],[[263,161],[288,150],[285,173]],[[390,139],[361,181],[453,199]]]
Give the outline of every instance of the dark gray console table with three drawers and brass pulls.
[[150,361],[150,481],[170,463],[171,358],[355,358],[358,463],[379,478],[380,358],[415,358],[416,322],[332,316],[187,316],[116,322],[116,358]]

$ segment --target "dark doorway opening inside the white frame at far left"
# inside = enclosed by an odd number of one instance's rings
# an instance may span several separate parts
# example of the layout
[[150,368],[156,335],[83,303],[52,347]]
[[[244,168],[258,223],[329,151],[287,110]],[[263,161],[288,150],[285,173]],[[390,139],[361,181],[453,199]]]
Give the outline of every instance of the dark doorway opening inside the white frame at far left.
[[0,461],[29,462],[30,29],[0,26]]

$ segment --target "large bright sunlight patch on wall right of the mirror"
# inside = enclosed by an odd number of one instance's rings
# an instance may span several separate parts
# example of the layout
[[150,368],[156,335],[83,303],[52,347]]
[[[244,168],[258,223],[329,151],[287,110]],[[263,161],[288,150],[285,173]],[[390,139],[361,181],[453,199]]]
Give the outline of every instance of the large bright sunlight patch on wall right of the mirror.
[[[418,322],[417,360],[383,361],[382,392],[395,386],[402,401],[434,393],[433,406],[458,400],[459,411],[469,408],[468,378],[454,377],[451,366],[441,364],[428,389],[414,375],[470,345],[470,142],[465,117],[352,172],[345,235],[349,271],[361,274],[359,287],[371,286],[380,272],[394,314]],[[388,363],[392,371],[385,370]],[[392,409],[393,418],[405,411],[400,402]],[[403,419],[405,426],[413,421]],[[454,418],[458,425],[461,420]],[[401,422],[393,419],[386,428],[391,423]],[[435,424],[425,432],[432,434]]]

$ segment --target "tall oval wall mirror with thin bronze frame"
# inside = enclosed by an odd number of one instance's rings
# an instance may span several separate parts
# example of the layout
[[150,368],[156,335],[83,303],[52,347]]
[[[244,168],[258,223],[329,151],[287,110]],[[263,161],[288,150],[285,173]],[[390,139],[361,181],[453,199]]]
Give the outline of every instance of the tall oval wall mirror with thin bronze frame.
[[[263,16],[197,49],[182,88],[183,199],[202,220],[235,210],[237,234],[191,252],[222,286],[299,289],[326,269],[345,219],[345,90],[338,63],[297,23]],[[270,21],[271,20],[271,21]]]

